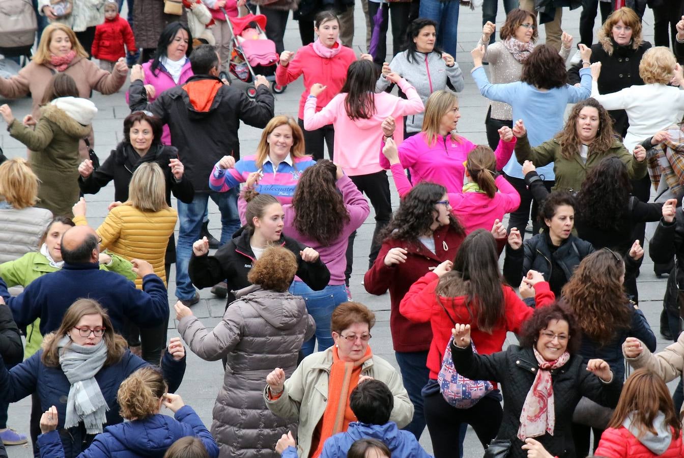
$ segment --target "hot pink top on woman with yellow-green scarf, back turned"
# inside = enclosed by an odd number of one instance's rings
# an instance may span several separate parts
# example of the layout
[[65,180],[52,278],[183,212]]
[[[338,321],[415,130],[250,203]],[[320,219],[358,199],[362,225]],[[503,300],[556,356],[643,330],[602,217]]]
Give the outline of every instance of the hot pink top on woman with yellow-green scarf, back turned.
[[[412,189],[404,173],[404,167],[402,164],[392,164],[390,170],[399,197],[404,198]],[[520,194],[508,183],[508,180],[503,178],[503,175],[497,176],[494,183],[499,188],[499,192],[491,199],[479,192],[447,192],[451,212],[462,224],[466,235],[475,229],[492,230],[495,219],[503,221],[503,215],[517,210],[520,206]]]

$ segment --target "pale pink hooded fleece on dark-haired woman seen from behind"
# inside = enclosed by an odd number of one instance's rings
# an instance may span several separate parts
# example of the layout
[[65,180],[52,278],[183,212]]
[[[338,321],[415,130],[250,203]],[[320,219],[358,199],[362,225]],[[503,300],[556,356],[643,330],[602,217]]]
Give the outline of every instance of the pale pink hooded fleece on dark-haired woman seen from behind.
[[[397,143],[404,139],[404,116],[422,113],[421,100],[415,87],[405,79],[397,83],[407,100],[380,92],[373,94],[376,102],[376,112],[369,119],[352,120],[347,116],[344,108],[346,93],[337,94],[330,103],[316,113],[316,97],[306,98],[304,103],[304,129],[315,131],[320,127],[332,124],[335,129],[335,162],[343,168],[349,176],[367,175],[380,172],[383,167],[378,161],[378,145],[382,142],[380,124],[388,116],[395,118],[397,127],[394,138]],[[472,149],[472,148],[471,148]],[[511,148],[512,152],[512,148]],[[510,154],[509,154],[510,157]],[[389,168],[389,164],[386,168]]]

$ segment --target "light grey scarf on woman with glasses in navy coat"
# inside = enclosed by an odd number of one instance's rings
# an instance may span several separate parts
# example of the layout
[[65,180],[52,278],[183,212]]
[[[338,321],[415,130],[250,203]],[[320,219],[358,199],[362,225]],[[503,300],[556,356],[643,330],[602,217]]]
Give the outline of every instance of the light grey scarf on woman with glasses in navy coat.
[[60,353],[62,371],[71,383],[64,427],[75,427],[82,421],[88,434],[101,433],[102,425],[107,422],[105,412],[109,407],[95,375],[107,360],[105,339],[90,347],[76,345],[69,336],[64,336],[57,344],[57,351]]

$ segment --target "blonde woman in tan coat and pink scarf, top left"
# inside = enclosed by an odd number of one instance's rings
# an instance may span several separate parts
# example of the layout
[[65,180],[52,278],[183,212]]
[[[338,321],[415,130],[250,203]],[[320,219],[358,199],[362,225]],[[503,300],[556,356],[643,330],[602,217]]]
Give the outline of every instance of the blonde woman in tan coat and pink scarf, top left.
[[[66,73],[76,81],[77,96],[90,98],[93,90],[105,95],[117,92],[126,82],[128,67],[126,61],[121,58],[114,66],[114,72],[101,70],[95,62],[88,59],[88,53],[72,29],[60,23],[52,23],[43,30],[31,62],[14,77],[0,77],[0,96],[21,98],[31,94],[33,109],[29,120],[37,120],[41,100],[55,72]],[[92,146],[92,130],[88,135]],[[88,148],[83,142],[80,145],[80,152],[83,158],[88,157]]]

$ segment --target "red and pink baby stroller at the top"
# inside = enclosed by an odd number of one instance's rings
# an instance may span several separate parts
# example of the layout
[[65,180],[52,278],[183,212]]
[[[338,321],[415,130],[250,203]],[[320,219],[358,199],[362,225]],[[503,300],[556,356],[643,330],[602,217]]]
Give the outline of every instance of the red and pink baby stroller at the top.
[[[225,10],[223,11],[225,14]],[[273,92],[282,94],[285,87],[276,84],[276,66],[278,53],[276,44],[266,38],[266,16],[263,14],[247,14],[231,18],[226,14],[226,21],[233,29],[233,51],[231,52],[230,71],[237,79],[245,83],[254,81],[256,75],[263,75],[273,84]],[[254,98],[257,88],[249,85],[247,95]]]

